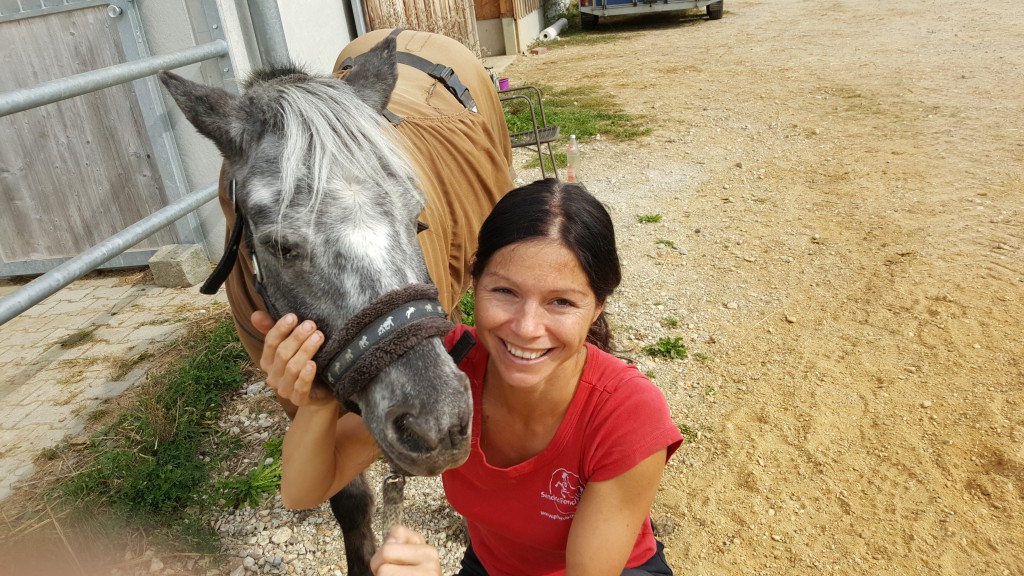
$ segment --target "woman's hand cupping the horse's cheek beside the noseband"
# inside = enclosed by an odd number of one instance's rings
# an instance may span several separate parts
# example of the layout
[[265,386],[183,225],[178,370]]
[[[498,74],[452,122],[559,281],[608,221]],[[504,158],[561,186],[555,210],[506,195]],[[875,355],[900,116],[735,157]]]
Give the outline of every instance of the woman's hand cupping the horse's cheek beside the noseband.
[[334,397],[313,385],[316,364],[312,358],[324,344],[324,333],[311,320],[299,323],[286,314],[274,324],[265,312],[254,312],[253,326],[265,335],[259,367],[266,372],[266,385],[295,406],[327,404]]

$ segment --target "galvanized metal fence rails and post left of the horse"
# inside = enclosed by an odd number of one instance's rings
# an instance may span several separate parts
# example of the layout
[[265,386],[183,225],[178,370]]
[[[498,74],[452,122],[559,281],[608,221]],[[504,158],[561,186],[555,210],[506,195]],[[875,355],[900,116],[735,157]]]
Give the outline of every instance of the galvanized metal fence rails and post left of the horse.
[[[285,42],[285,33],[276,0],[248,0],[248,4],[256,44],[263,65],[286,64],[289,59],[288,45]],[[139,58],[29,88],[5,92],[0,94],[0,117],[146,78],[162,70],[180,68],[227,55],[227,43],[217,39],[170,54]],[[122,254],[158,230],[191,213],[216,197],[216,182],[184,195],[150,216],[58,264],[17,291],[0,298],[0,325],[17,317],[75,280]]]

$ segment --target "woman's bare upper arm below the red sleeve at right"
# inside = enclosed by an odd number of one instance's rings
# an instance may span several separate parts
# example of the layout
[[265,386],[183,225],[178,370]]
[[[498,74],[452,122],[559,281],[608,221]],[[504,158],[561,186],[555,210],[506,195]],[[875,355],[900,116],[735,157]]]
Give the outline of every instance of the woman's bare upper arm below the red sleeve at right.
[[587,484],[569,528],[566,576],[622,574],[657,494],[666,454],[658,450],[611,480]]

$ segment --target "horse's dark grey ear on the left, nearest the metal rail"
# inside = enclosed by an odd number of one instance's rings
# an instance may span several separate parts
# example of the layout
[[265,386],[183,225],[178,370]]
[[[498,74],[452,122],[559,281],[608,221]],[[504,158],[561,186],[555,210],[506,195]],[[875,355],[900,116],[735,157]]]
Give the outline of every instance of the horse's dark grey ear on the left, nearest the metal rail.
[[241,130],[233,122],[237,122],[234,111],[239,97],[220,88],[185,80],[171,72],[161,72],[159,76],[188,122],[213,140],[224,157],[238,156],[241,150],[238,134]]

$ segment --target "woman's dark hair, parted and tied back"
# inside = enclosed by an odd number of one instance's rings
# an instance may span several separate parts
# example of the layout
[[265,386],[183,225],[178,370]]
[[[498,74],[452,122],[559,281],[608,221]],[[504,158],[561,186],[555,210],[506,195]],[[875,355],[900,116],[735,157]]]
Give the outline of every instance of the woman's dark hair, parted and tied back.
[[[575,255],[599,304],[623,279],[615,230],[604,205],[581,184],[547,178],[506,194],[483,221],[473,280],[480,279],[496,252],[535,238],[558,240]],[[611,329],[603,312],[590,327],[587,341],[613,353]]]

